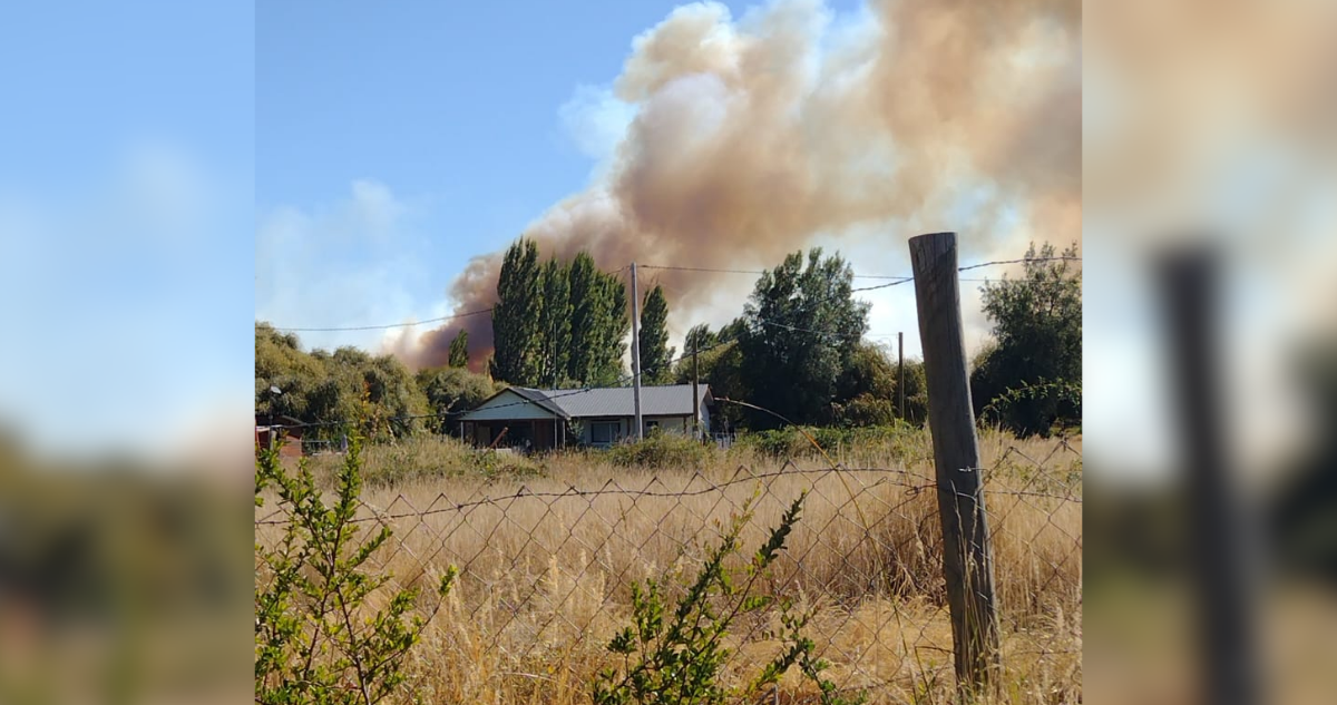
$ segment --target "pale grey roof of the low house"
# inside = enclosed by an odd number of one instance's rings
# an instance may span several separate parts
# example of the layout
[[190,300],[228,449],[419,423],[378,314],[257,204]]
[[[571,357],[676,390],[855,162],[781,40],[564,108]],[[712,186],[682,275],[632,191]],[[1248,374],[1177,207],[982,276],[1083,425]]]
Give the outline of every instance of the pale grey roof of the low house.
[[[635,397],[631,387],[586,390],[509,387],[509,391],[567,419],[635,415]],[[699,385],[697,395],[702,406],[713,401],[709,385]],[[691,385],[642,386],[640,414],[644,417],[690,417]],[[471,415],[472,413],[464,414],[461,421],[469,421]]]

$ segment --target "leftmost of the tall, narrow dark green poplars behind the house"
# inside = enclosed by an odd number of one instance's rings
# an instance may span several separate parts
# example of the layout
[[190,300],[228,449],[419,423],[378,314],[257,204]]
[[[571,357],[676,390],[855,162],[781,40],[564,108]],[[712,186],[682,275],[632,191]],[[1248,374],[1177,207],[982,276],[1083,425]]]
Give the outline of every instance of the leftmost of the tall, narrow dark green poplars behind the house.
[[543,315],[539,246],[520,238],[507,248],[492,308],[492,377],[533,386],[539,378],[539,322]]

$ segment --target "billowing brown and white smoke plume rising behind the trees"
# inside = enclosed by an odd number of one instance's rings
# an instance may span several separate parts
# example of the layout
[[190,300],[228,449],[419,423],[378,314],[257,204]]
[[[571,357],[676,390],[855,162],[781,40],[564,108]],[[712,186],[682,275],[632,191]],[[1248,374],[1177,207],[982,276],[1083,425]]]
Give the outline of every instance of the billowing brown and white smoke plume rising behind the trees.
[[[816,235],[868,226],[902,242],[957,230],[973,252],[1013,256],[1025,239],[1076,240],[1079,43],[1076,0],[898,0],[842,23],[813,0],[738,20],[714,3],[681,7],[635,39],[614,83],[635,118],[610,167],[525,234],[543,256],[586,250],[606,270],[759,268]],[[1000,232],[1004,216],[1021,227]],[[456,312],[496,300],[500,262],[476,258],[455,280]],[[655,276],[675,315],[715,284]],[[487,315],[400,352],[441,365],[460,330],[480,366]]]

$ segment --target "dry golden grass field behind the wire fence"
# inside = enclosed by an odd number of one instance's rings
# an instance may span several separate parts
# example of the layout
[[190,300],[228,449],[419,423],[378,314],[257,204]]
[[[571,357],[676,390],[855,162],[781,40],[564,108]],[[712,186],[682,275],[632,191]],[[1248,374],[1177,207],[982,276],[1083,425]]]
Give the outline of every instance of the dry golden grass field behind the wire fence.
[[[929,438],[898,430],[836,446],[830,459],[673,442],[533,459],[440,439],[368,449],[366,511],[393,517],[396,531],[384,570],[412,583],[460,567],[412,652],[409,685],[421,702],[590,702],[591,680],[610,662],[604,646],[628,624],[634,582],[690,579],[719,522],[755,497],[742,542],[750,553],[810,490],[763,589],[814,610],[808,632],[842,689],[864,690],[869,702],[953,701],[941,537],[935,493],[925,491]],[[1080,438],[981,437],[1000,702],[1080,700]],[[312,466],[328,475],[337,462]],[[271,527],[257,529],[263,541]],[[777,618],[734,634],[731,677],[774,654],[778,642],[761,636]],[[816,702],[809,684],[783,685],[774,701]]]

